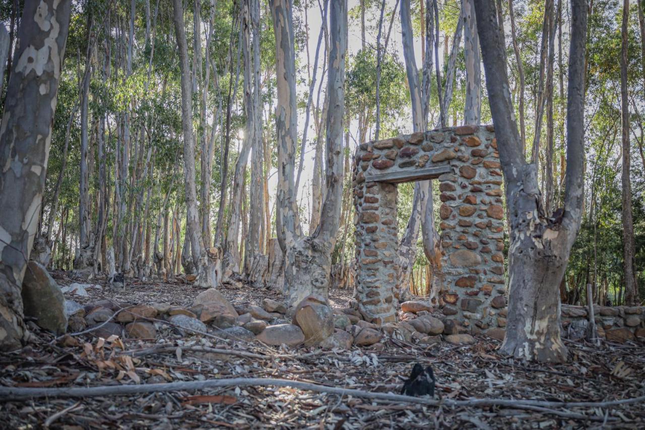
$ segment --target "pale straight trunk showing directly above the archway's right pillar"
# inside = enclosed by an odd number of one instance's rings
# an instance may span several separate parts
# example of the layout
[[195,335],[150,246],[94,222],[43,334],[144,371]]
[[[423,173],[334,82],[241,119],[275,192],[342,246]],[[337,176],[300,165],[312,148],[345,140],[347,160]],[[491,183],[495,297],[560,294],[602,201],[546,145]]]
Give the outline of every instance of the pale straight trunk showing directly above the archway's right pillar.
[[479,58],[479,37],[475,18],[475,0],[461,1],[464,18],[464,59],[466,60],[466,105],[464,124],[480,124],[481,116],[481,60]]

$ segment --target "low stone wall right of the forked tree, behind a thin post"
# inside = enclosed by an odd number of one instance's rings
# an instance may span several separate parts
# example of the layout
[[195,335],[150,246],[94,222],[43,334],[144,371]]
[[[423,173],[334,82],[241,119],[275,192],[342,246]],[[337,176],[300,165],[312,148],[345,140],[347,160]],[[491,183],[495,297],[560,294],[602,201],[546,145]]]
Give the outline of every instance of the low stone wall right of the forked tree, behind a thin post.
[[[562,336],[584,338],[588,325],[584,306],[562,305]],[[645,306],[597,306],[593,316],[600,338],[611,342],[645,340]]]

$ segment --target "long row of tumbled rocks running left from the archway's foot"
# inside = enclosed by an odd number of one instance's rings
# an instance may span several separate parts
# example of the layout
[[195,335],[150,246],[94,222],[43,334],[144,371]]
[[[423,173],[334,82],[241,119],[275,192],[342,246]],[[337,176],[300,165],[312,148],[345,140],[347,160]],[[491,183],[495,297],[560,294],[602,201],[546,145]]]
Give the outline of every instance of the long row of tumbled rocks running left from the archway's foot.
[[112,334],[137,339],[154,339],[157,331],[170,322],[184,334],[212,333],[234,341],[260,341],[266,345],[314,346],[325,349],[351,349],[352,345],[384,349],[385,336],[422,345],[446,340],[451,343],[474,343],[475,339],[460,333],[452,320],[432,316],[424,302],[403,303],[402,320],[377,326],[362,319],[357,304],[332,308],[319,296],[308,296],[298,305],[264,299],[261,306],[236,308],[216,289],[201,292],[192,307],[169,303],[149,305],[101,300],[81,306],[65,301],[69,316],[68,331],[92,329],[94,336]]

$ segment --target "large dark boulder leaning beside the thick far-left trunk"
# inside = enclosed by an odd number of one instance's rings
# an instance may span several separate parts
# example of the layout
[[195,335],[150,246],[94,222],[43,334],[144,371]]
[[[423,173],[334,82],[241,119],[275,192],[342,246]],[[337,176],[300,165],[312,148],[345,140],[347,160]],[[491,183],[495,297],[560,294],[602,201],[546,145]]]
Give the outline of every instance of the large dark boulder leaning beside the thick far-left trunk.
[[22,295],[25,316],[36,318],[37,325],[45,330],[65,333],[67,315],[63,293],[45,267],[35,261],[27,265]]

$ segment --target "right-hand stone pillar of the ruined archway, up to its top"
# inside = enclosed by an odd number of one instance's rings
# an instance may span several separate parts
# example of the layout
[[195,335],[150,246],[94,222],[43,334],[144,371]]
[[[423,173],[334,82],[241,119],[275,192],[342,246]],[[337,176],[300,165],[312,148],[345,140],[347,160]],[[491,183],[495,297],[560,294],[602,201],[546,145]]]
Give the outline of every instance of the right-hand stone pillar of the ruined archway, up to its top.
[[506,325],[502,172],[492,127],[453,132],[454,172],[439,177],[441,299],[444,315],[476,333]]

